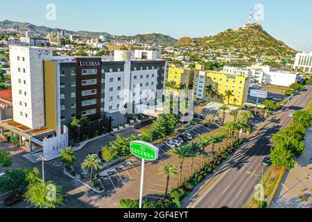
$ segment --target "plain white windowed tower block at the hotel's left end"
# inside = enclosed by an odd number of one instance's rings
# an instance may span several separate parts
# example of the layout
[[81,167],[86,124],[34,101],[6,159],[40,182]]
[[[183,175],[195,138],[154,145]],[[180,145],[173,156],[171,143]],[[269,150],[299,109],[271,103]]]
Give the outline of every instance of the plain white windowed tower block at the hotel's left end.
[[10,46],[13,117],[29,128],[44,126],[43,61],[52,56],[52,49]]

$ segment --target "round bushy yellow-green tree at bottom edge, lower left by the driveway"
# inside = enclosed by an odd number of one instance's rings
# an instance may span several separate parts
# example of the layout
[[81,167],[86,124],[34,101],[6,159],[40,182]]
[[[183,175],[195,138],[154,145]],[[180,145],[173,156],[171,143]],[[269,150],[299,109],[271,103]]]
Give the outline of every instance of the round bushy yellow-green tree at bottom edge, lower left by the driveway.
[[24,197],[28,203],[39,208],[55,208],[64,202],[62,187],[53,181],[29,184]]

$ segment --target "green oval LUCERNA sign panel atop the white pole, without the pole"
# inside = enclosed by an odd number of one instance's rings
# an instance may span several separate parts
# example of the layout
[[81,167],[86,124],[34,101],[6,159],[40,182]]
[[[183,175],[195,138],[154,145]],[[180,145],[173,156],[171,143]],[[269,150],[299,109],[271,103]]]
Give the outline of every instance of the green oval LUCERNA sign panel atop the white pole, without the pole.
[[130,142],[130,152],[144,160],[157,160],[159,149],[143,141]]

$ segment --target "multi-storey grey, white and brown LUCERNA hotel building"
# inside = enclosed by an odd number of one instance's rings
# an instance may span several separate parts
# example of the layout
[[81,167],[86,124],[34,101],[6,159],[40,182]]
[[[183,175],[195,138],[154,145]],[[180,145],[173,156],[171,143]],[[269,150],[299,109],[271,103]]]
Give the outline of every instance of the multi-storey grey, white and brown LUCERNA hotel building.
[[43,147],[51,159],[69,145],[75,117],[88,117],[90,134],[126,123],[127,108],[155,98],[166,76],[166,60],[131,54],[65,58],[53,57],[51,48],[10,46],[13,119],[1,121],[1,133],[10,130],[29,151]]

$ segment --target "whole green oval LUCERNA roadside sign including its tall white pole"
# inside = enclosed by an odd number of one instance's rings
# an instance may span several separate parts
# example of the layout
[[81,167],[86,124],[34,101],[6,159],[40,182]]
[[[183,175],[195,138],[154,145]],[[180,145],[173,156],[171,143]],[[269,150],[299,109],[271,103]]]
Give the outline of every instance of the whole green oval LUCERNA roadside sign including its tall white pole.
[[133,141],[133,142],[130,142],[130,152],[133,155],[142,159],[140,200],[139,200],[139,208],[142,208],[145,160],[157,160],[159,149],[156,146],[154,146],[153,144],[149,144],[147,142]]

